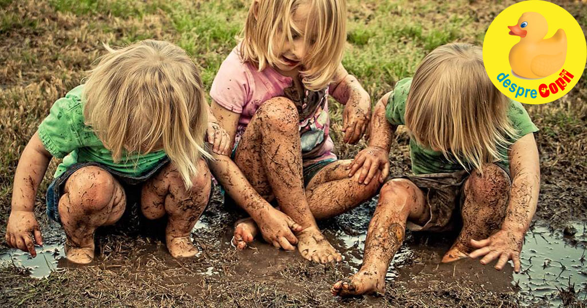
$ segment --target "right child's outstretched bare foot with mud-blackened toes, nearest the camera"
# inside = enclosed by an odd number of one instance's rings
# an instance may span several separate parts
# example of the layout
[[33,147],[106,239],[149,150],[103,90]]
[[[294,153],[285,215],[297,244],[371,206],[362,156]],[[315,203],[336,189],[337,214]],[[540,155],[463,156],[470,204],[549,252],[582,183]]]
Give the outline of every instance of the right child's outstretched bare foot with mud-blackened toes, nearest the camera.
[[355,275],[348,279],[340,280],[330,289],[332,296],[353,296],[374,292],[383,293],[385,288],[385,275],[375,270],[363,270],[361,268]]

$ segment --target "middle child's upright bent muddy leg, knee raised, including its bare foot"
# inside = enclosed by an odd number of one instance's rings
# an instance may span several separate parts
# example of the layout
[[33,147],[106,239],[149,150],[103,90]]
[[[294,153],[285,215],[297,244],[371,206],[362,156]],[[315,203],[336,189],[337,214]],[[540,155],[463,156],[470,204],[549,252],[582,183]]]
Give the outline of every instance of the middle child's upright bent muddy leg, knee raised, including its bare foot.
[[[304,258],[321,263],[342,259],[322,236],[308,206],[299,116],[291,100],[275,97],[259,108],[238,145],[235,163],[259,194],[268,199],[275,196],[281,210],[304,228],[297,234]],[[245,238],[235,233],[238,236]]]

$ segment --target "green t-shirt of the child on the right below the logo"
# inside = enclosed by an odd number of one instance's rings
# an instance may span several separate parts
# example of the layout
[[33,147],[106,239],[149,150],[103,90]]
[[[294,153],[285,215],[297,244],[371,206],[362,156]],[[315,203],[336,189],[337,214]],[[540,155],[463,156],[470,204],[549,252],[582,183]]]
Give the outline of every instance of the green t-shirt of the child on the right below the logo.
[[[405,124],[406,101],[408,93],[410,92],[410,86],[411,78],[405,78],[397,82],[395,89],[389,97],[385,112],[385,116],[389,123],[392,123],[393,125]],[[532,123],[528,113],[518,101],[510,100],[507,116],[512,126],[517,131],[519,138],[526,134],[538,131],[538,128]],[[508,138],[508,141],[514,143],[517,139],[512,140],[512,138]],[[507,155],[507,148],[498,147],[498,150],[500,151],[501,157],[504,157],[504,159],[496,161],[495,163],[504,168],[504,170],[509,170],[510,161]],[[413,138],[410,138],[410,156],[411,170],[414,174],[455,172],[464,169],[463,166],[458,164],[456,159],[453,158],[448,160],[441,152],[423,147]],[[464,163],[467,164],[466,162]]]

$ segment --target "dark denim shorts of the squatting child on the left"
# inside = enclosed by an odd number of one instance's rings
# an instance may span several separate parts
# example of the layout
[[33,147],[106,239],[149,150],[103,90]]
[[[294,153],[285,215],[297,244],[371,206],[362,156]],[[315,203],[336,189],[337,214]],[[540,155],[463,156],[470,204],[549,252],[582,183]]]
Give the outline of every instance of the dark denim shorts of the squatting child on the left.
[[[144,223],[143,215],[140,214],[140,201],[141,201],[141,188],[143,187],[144,182],[153,178],[163,167],[165,167],[168,163],[170,163],[169,158],[164,158],[154,167],[153,169],[149,170],[145,174],[133,176],[128,174],[123,174],[112,168],[107,167],[106,165],[95,163],[95,162],[88,162],[88,163],[77,163],[71,165],[68,170],[63,172],[63,174],[59,175],[58,178],[55,178],[53,182],[49,185],[47,189],[47,215],[53,221],[59,222],[61,224],[61,218],[59,216],[59,199],[63,195],[63,188],[65,187],[65,182],[68,178],[73,174],[73,172],[79,170],[80,168],[87,167],[87,166],[97,166],[106,171],[108,171],[117,181],[119,181],[120,185],[122,185],[124,189],[124,194],[126,194],[126,208],[124,209],[124,214],[117,225],[124,225],[124,231],[137,231],[139,225]],[[212,185],[212,189],[214,185]],[[210,192],[210,197],[212,196],[212,192]],[[210,199],[208,199],[208,204],[210,204]]]

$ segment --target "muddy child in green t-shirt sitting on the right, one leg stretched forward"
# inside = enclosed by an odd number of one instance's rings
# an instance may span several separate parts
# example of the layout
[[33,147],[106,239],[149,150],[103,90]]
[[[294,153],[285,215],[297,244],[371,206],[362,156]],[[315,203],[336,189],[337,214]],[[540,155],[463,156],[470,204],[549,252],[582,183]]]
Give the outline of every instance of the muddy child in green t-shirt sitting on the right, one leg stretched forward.
[[485,255],[481,263],[499,257],[495,268],[501,270],[512,259],[518,272],[538,199],[538,149],[532,134],[538,128],[520,103],[493,86],[481,48],[440,46],[424,58],[413,79],[397,82],[377,103],[369,147],[356,156],[349,173],[360,169],[359,180],[369,182],[377,169],[389,168],[387,155],[398,125],[410,131],[415,175],[383,185],[363,265],[335,283],[332,294],[383,292],[406,226],[443,231],[450,228],[453,211],[460,211],[463,228],[442,262]]

